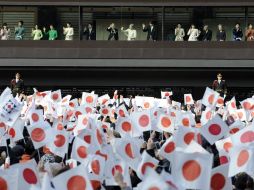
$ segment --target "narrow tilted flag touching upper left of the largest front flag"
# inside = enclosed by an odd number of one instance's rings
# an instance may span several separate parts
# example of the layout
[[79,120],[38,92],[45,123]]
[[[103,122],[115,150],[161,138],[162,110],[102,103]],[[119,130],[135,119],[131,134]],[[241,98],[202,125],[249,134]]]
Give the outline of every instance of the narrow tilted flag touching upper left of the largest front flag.
[[163,144],[163,146],[159,150],[159,155],[163,158],[166,158],[169,161],[172,161],[173,159],[173,152],[176,149],[176,143],[174,141],[173,136],[168,138],[166,142]]

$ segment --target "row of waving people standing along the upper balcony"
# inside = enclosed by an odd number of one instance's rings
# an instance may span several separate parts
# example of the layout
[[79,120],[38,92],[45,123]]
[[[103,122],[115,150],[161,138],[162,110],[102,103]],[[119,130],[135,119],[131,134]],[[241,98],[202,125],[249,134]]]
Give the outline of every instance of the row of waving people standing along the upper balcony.
[[[118,29],[115,23],[111,23],[106,31],[109,32],[108,40],[119,40]],[[127,29],[121,27],[120,30],[125,36],[127,41],[134,41],[137,38],[137,30],[134,24],[130,24]],[[154,22],[149,22],[148,25],[142,24],[142,31],[147,33],[147,40],[157,41],[158,40],[158,28]],[[53,25],[49,26],[49,30],[43,27],[42,30],[35,25],[32,29],[31,36],[33,40],[57,40],[59,39],[59,33]],[[63,27],[62,33],[65,40],[73,40],[74,38],[74,28],[71,23],[67,23],[66,27]],[[18,26],[14,29],[15,40],[24,40],[25,27],[24,22],[19,21]],[[96,40],[96,30],[92,24],[88,24],[83,30],[84,39],[86,40]],[[235,25],[232,30],[233,41],[253,41],[254,40],[254,29],[252,24],[249,24],[245,31],[242,30],[239,23]],[[7,23],[4,23],[0,31],[1,40],[9,40],[11,37],[11,30],[8,28]],[[212,41],[213,32],[209,29],[208,25],[204,25],[203,29],[198,29],[194,24],[190,26],[188,30],[185,31],[181,24],[178,24],[174,30],[174,41]],[[222,24],[218,25],[216,32],[217,41],[227,41],[226,31]]]

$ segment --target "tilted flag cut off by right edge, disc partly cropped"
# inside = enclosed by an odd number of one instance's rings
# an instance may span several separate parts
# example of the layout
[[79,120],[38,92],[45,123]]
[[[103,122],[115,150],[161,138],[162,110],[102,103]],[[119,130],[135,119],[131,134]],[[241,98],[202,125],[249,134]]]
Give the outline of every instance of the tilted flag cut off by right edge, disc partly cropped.
[[254,125],[244,127],[234,135],[231,135],[234,146],[244,146],[254,143]]

